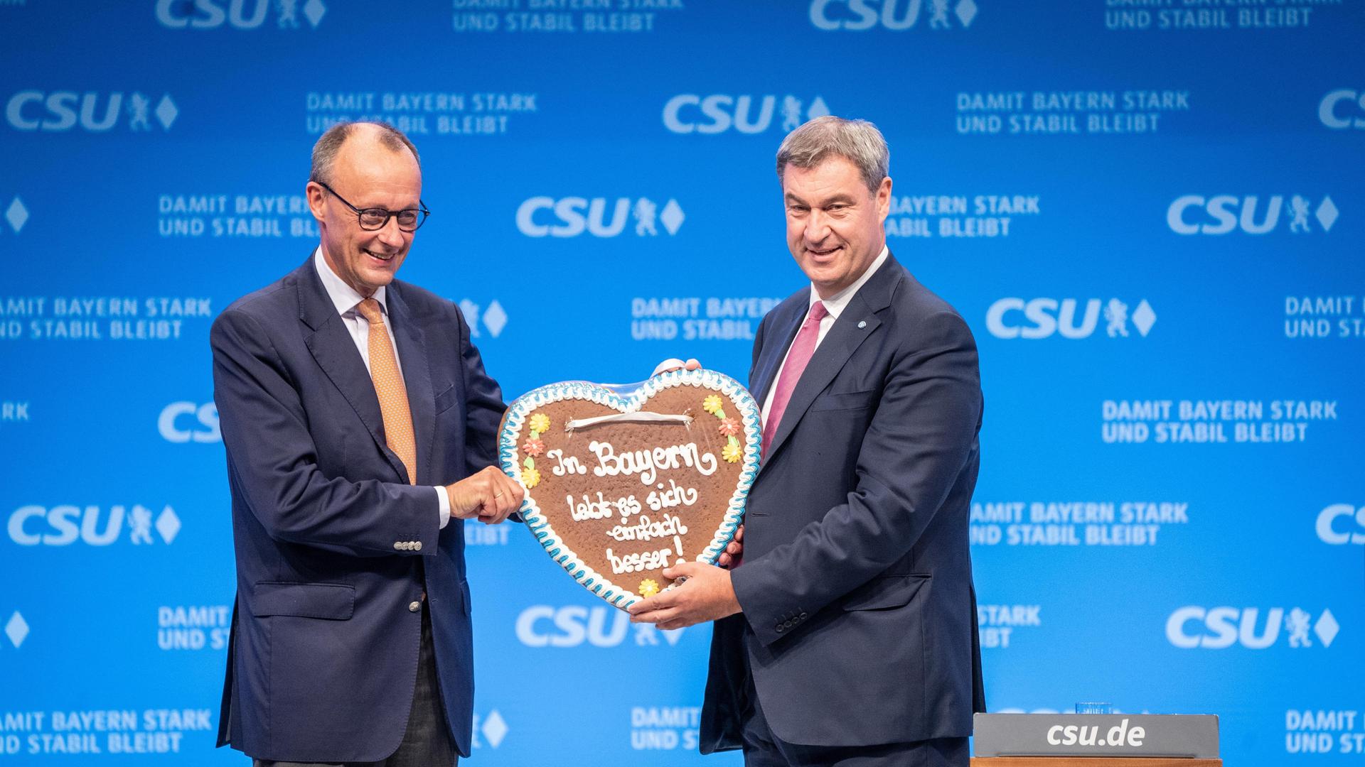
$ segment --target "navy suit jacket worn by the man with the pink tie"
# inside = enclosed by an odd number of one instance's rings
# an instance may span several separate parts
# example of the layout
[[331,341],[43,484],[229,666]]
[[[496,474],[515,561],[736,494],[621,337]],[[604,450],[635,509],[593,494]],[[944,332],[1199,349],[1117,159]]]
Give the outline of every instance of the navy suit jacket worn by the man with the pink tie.
[[[759,401],[808,304],[809,288],[759,325]],[[812,355],[749,491],[732,573],[743,613],[715,624],[702,752],[740,747],[745,671],[789,742],[971,734],[980,424],[971,330],[889,257]]]

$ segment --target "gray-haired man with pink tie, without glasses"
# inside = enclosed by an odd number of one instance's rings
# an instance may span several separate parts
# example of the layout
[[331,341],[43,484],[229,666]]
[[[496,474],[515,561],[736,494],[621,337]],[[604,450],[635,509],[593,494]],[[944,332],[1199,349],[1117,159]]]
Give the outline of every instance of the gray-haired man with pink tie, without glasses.
[[981,389],[966,322],[891,257],[889,151],[818,117],[777,154],[811,284],[763,318],[749,390],[763,464],[744,561],[631,607],[715,621],[703,753],[749,767],[968,764],[984,710],[968,519]]

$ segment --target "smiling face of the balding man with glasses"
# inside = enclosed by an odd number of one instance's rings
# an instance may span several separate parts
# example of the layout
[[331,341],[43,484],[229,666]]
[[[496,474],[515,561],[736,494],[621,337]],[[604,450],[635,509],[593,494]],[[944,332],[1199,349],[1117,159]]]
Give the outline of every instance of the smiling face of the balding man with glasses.
[[[351,205],[405,210],[420,206],[422,171],[405,147],[379,143],[371,126],[356,126],[337,150],[328,183]],[[371,296],[393,281],[412,247],[414,232],[399,229],[390,217],[381,229],[367,232],[354,210],[315,182],[307,187],[308,209],[322,232],[322,258],[347,285]]]

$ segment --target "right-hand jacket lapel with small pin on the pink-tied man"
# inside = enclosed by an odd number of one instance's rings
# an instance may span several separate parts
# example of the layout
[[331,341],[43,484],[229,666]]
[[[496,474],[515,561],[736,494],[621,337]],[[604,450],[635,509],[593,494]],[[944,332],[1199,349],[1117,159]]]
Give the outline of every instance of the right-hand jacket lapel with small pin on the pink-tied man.
[[811,408],[815,397],[830,385],[830,381],[834,381],[834,377],[839,374],[853,352],[863,345],[863,341],[867,341],[882,326],[882,318],[878,314],[891,306],[891,291],[902,273],[901,265],[889,255],[876,274],[872,274],[859,288],[859,292],[853,293],[849,304],[834,321],[834,326],[811,355],[811,362],[801,373],[801,379],[796,382],[792,399],[786,403],[786,409],[782,411],[782,422],[777,424],[777,433],[773,434],[768,454],[763,460],[777,454],[786,438],[796,430],[796,424],[801,422],[805,411]]

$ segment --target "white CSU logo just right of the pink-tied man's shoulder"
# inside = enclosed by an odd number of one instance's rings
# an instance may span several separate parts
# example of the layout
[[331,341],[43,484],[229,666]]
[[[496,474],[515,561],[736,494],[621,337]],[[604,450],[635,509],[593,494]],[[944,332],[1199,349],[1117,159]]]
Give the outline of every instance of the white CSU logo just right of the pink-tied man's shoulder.
[[1076,321],[1078,299],[1001,299],[986,311],[986,328],[996,338],[1089,338],[1104,317],[1104,334],[1110,338],[1129,337],[1129,325],[1147,337],[1156,322],[1156,313],[1147,299],[1138,302],[1129,314],[1129,304],[1119,299],[1085,299],[1081,321]]

